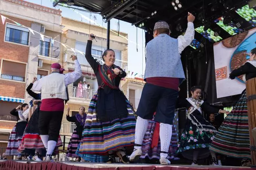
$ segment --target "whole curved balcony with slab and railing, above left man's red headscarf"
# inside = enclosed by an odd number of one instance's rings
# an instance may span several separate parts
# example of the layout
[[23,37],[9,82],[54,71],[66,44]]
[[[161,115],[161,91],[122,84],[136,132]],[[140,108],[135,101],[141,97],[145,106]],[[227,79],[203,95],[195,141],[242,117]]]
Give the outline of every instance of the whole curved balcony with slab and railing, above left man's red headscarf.
[[49,46],[48,44],[40,44],[34,54],[39,59],[42,59],[43,63],[57,63],[59,61],[60,48]]

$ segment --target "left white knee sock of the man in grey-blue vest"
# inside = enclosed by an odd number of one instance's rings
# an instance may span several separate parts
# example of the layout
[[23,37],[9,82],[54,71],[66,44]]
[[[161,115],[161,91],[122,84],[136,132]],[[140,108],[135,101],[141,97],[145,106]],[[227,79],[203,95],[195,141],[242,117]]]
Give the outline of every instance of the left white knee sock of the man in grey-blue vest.
[[[142,145],[144,135],[147,131],[147,126],[149,124],[149,120],[142,119],[141,117],[137,117],[136,127],[135,127],[135,144]],[[134,146],[135,150],[141,149],[141,146]]]

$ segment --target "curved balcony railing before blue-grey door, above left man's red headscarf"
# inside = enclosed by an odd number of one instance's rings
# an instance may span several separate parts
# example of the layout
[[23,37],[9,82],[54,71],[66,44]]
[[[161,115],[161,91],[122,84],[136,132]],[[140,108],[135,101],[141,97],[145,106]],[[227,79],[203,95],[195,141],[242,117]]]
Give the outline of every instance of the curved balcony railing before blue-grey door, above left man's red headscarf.
[[39,48],[35,51],[36,54],[40,56],[59,58],[60,48],[54,46],[48,46],[45,44],[40,44]]

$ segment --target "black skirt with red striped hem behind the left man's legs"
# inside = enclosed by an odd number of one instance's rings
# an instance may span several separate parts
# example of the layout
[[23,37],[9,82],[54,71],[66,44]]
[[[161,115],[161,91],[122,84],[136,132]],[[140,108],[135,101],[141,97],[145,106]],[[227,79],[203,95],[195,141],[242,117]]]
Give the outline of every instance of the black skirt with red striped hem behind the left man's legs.
[[[26,153],[26,154],[35,154],[35,149],[43,149],[42,155],[45,153],[45,146],[43,145],[43,141],[39,135],[38,129],[38,117],[39,117],[39,109],[36,109],[35,112],[32,114],[31,118],[28,121],[28,124],[25,128],[21,144],[19,147],[19,152]],[[62,146],[61,137],[59,136],[56,148],[54,150],[53,155],[59,154],[58,147]]]

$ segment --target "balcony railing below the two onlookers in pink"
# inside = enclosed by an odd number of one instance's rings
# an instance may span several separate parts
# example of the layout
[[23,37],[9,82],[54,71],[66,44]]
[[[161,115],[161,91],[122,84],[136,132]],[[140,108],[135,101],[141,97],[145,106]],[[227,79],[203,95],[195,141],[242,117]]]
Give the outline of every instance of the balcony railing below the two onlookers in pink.
[[69,97],[77,99],[92,99],[97,90],[91,89],[79,89],[78,87],[68,87]]

